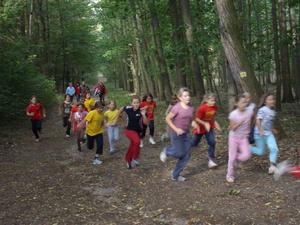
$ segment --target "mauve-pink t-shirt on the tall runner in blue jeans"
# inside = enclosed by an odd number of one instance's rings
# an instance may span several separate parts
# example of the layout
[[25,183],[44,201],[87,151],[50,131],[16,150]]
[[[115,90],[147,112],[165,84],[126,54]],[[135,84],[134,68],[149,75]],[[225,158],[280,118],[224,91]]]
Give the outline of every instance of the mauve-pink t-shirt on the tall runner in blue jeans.
[[[181,103],[178,102],[172,107],[170,112],[175,115],[173,118],[174,125],[188,133],[194,116],[194,108],[192,106],[183,108]],[[174,132],[173,129],[170,130]]]

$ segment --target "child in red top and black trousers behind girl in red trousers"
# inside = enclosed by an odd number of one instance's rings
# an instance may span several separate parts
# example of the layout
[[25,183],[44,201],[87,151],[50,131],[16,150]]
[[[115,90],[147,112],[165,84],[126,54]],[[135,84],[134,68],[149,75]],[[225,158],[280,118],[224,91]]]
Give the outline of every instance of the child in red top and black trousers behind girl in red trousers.
[[154,141],[154,110],[156,108],[156,102],[153,101],[153,95],[152,94],[147,94],[143,97],[142,103],[140,105],[141,109],[146,110],[146,116],[148,119],[149,124],[148,125],[143,125],[143,130],[141,134],[141,144],[140,147],[143,147],[143,139],[145,138],[147,127],[149,127],[150,130],[150,137],[149,137],[149,142],[152,145],[155,145],[156,142]]

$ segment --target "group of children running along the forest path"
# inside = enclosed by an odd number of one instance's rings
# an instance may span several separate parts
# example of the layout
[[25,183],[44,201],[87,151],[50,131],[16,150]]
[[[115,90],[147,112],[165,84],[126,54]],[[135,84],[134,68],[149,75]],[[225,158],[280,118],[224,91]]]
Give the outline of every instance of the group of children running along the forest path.
[[[125,155],[128,169],[140,165],[140,148],[143,147],[143,139],[146,130],[150,130],[150,144],[156,144],[154,140],[154,112],[156,102],[151,94],[144,96],[142,101],[138,96],[131,97],[131,104],[120,109],[115,101],[110,101],[107,110],[100,101],[95,101],[87,92],[73,103],[69,95],[66,95],[61,104],[60,111],[63,115],[63,125],[66,127],[66,137],[70,137],[71,129],[77,136],[78,150],[86,141],[87,148],[93,149],[96,142],[96,154],[93,165],[100,165],[103,154],[103,133],[106,127],[110,146],[110,154],[116,152],[116,142],[119,140],[119,121],[122,114],[127,115],[127,126],[124,135],[130,140]],[[251,154],[263,155],[265,145],[269,148],[270,167],[269,174],[273,174],[277,167],[278,147],[274,137],[276,131],[273,129],[273,121],[276,115],[275,98],[272,94],[266,94],[256,106],[251,101],[251,95],[244,93],[236,98],[234,109],[229,114],[229,137],[228,137],[228,168],[227,182],[235,181],[235,168],[248,160]],[[200,106],[194,112],[191,106],[190,91],[180,88],[177,95],[173,97],[167,112],[167,130],[162,138],[168,137],[170,145],[160,153],[160,160],[166,162],[169,157],[177,159],[176,166],[171,174],[174,181],[185,181],[181,172],[186,167],[191,149],[199,144],[205,136],[208,144],[208,168],[218,166],[215,154],[215,130],[221,131],[216,121],[218,107],[216,96],[213,93],[206,94]],[[45,117],[45,110],[37,98],[33,96],[27,107],[27,115],[31,118],[32,131],[39,141],[41,132],[41,121]],[[190,139],[189,131],[192,128],[193,137]],[[254,141],[253,141],[253,140]],[[253,143],[254,142],[254,143]]]

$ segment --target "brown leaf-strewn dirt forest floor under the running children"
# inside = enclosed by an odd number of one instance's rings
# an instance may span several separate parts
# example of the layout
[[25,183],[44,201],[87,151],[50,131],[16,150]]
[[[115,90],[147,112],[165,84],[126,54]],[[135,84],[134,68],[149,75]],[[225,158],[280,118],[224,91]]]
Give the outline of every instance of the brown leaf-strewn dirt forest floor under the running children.
[[[288,138],[279,141],[280,161],[295,163],[299,113],[286,112],[281,118]],[[236,182],[228,184],[227,140],[218,134],[219,167],[207,169],[203,141],[183,172],[187,181],[173,182],[175,161],[159,161],[166,144],[145,141],[141,166],[127,170],[123,135],[119,151],[109,155],[106,141],[104,163],[93,166],[94,151],[77,151],[75,139],[64,137],[55,110],[43,124],[40,143],[34,142],[29,123],[2,130],[0,224],[299,224],[300,180],[286,175],[275,182],[267,174],[267,155],[242,165]]]

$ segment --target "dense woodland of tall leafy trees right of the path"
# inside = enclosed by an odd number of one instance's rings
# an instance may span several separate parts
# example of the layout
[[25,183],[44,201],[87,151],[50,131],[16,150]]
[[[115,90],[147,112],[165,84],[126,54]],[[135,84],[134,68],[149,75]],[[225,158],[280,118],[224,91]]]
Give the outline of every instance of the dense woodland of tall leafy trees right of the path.
[[[300,97],[300,2],[101,1],[105,74],[121,87],[169,99],[243,90]],[[224,94],[224,91],[222,92]],[[279,105],[280,106],[280,105]]]

